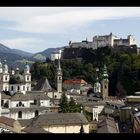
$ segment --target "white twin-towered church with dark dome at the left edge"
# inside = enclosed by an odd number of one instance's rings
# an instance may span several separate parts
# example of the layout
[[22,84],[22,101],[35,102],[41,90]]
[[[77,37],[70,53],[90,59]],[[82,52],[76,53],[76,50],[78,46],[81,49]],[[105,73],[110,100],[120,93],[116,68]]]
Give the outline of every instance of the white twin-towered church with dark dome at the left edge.
[[0,91],[9,91],[11,95],[15,92],[23,94],[31,91],[31,73],[29,65],[25,65],[24,73],[19,73],[19,68],[11,70],[9,73],[6,62],[2,65],[0,62]]

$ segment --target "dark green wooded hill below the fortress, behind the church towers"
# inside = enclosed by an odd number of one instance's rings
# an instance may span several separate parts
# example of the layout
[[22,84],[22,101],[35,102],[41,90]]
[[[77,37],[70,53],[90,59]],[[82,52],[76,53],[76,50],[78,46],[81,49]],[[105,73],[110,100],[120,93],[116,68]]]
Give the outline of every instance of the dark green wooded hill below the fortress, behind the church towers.
[[[133,49],[135,50],[135,48]],[[96,81],[96,68],[99,68],[99,79],[103,65],[109,73],[109,94],[125,96],[140,91],[140,55],[135,51],[112,50],[109,47],[97,50],[85,49],[82,61],[62,60],[63,80],[83,78],[92,85]],[[55,65],[52,62],[37,62],[32,66],[33,80],[47,77],[54,85]]]

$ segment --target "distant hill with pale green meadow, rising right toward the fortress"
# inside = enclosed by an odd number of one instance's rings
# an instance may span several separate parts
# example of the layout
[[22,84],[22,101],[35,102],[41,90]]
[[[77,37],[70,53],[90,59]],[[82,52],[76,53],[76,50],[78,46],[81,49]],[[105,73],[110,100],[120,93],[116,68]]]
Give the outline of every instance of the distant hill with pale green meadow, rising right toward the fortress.
[[32,57],[34,59],[38,59],[38,60],[46,60],[46,57],[51,58],[51,53],[53,51],[58,51],[58,50],[62,50],[67,46],[63,46],[63,47],[58,47],[58,48],[48,48],[42,52],[38,52],[36,54],[34,54]]

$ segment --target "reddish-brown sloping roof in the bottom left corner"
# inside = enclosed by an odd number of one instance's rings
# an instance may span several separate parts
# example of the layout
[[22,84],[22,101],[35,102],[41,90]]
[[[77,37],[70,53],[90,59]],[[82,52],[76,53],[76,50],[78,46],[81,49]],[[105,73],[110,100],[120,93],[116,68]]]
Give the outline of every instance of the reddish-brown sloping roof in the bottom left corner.
[[15,120],[12,118],[4,117],[4,116],[0,117],[0,123],[6,124],[6,125],[11,126],[11,127],[13,127],[14,121]]

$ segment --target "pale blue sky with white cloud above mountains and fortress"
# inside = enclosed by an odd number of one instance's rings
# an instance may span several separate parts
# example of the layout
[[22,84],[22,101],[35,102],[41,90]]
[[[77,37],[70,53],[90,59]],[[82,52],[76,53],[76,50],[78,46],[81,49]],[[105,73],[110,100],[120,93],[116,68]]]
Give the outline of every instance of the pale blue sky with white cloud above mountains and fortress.
[[0,43],[10,48],[36,53],[110,32],[140,46],[140,8],[0,7]]

